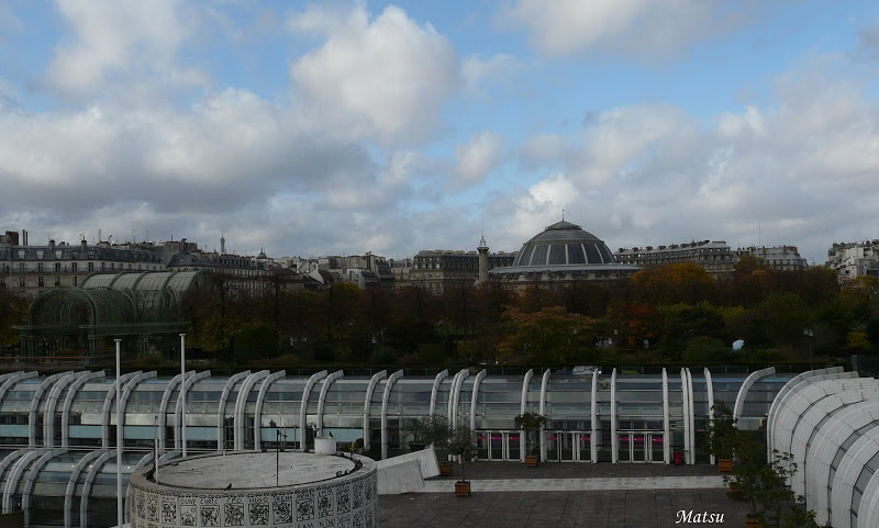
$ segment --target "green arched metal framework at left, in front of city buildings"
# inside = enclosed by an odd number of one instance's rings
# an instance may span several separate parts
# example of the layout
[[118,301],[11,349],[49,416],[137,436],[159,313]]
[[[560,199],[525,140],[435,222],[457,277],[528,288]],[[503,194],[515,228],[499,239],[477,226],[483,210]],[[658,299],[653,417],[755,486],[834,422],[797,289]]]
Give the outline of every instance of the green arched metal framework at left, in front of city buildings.
[[[203,271],[93,273],[79,288],[55,288],[31,304],[21,333],[23,356],[52,356],[64,349],[99,353],[124,338],[125,351],[166,350],[183,332],[182,294]],[[131,339],[135,337],[136,339]]]

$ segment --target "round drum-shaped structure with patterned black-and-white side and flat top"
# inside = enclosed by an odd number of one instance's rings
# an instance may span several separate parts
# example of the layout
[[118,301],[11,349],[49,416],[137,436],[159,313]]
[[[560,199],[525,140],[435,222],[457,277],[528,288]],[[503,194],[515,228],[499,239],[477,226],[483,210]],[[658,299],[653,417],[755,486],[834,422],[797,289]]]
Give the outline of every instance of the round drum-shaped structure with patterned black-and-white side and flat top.
[[131,528],[376,527],[377,494],[376,463],[356,454],[188,457],[158,482],[152,467],[132,475]]

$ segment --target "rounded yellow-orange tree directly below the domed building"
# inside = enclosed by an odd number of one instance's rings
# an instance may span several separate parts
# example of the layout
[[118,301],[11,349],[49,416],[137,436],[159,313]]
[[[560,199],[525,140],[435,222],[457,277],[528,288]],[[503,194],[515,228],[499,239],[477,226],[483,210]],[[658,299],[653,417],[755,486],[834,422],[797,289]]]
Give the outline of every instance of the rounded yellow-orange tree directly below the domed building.
[[587,355],[593,345],[593,321],[561,306],[533,313],[511,307],[503,315],[503,324],[507,332],[498,356],[504,362],[524,359],[532,363],[564,363]]

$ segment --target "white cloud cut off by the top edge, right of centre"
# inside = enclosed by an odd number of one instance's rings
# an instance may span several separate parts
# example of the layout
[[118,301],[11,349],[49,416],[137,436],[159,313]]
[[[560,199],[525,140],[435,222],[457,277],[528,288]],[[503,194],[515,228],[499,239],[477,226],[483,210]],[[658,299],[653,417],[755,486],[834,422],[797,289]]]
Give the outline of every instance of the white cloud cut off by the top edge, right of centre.
[[500,20],[524,29],[549,56],[612,53],[667,59],[694,42],[724,33],[765,9],[759,2],[700,0],[515,0]]

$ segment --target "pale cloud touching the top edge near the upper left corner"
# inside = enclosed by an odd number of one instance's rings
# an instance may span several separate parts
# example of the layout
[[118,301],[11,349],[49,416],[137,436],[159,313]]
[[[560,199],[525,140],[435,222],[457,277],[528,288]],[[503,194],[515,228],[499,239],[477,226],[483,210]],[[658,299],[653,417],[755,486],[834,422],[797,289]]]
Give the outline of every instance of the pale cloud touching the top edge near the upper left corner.
[[91,96],[116,76],[158,76],[175,83],[201,83],[192,68],[179,68],[176,56],[191,36],[178,0],[57,0],[58,13],[73,40],[54,53],[45,77],[60,93]]

